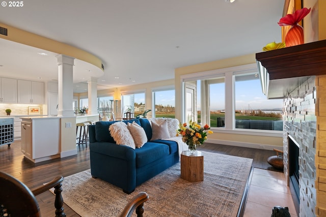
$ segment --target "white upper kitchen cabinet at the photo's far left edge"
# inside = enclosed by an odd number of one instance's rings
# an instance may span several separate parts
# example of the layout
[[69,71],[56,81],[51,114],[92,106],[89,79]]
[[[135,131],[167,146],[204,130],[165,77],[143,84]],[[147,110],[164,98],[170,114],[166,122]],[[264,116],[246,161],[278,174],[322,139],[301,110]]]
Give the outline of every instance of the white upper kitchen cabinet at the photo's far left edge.
[[0,78],[1,103],[17,103],[17,79]]

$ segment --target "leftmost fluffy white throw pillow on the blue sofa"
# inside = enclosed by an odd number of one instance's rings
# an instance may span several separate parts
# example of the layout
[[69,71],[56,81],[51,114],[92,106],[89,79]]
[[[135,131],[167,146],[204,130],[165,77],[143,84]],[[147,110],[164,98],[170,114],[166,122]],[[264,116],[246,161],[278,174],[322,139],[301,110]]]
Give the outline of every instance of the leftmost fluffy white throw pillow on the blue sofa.
[[127,145],[135,149],[133,138],[124,122],[115,122],[110,125],[108,130],[110,131],[110,134],[114,141],[116,141],[117,145]]

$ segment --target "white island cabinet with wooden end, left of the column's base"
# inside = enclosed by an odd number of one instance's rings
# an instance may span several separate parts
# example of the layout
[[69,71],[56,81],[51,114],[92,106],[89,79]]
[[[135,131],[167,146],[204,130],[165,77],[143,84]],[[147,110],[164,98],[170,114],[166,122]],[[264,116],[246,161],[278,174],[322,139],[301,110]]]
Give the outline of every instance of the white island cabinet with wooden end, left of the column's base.
[[60,158],[60,118],[22,117],[21,151],[34,163]]

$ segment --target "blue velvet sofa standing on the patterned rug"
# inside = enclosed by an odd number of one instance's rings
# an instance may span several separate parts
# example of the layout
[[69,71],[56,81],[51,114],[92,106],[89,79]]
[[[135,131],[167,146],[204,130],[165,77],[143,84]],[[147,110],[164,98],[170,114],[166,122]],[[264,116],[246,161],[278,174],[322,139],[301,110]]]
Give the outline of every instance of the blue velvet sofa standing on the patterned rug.
[[130,194],[135,187],[179,162],[178,144],[154,140],[148,119],[135,121],[146,133],[148,142],[141,148],[117,145],[108,128],[116,121],[98,121],[89,126],[91,173],[95,178],[116,185]]

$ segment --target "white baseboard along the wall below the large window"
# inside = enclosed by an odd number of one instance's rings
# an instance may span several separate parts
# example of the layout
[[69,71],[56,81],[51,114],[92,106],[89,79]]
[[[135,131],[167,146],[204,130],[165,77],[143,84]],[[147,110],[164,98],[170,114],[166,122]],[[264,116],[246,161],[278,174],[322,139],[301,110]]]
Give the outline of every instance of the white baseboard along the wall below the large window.
[[246,147],[246,148],[257,148],[257,149],[264,149],[264,150],[274,150],[274,148],[283,150],[283,144],[282,146],[277,146],[277,145],[266,145],[266,144],[259,144],[259,143],[235,142],[235,141],[219,140],[219,139],[207,139],[206,142],[213,143],[213,144],[231,145],[231,146]]

